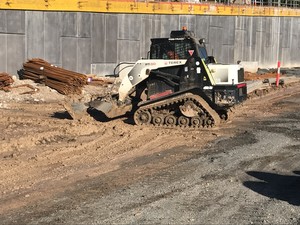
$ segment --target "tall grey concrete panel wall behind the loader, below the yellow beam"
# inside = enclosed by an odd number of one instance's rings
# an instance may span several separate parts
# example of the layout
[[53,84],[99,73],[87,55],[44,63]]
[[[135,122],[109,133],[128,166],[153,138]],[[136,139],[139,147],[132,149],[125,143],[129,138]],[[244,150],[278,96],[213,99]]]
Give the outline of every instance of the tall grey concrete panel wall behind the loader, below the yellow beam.
[[260,67],[300,64],[300,17],[103,14],[0,10],[0,72],[30,58],[81,73],[110,74],[120,61],[146,57],[152,37],[187,26],[206,38],[219,62]]

